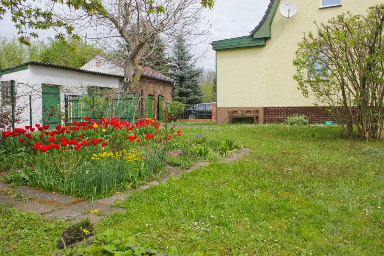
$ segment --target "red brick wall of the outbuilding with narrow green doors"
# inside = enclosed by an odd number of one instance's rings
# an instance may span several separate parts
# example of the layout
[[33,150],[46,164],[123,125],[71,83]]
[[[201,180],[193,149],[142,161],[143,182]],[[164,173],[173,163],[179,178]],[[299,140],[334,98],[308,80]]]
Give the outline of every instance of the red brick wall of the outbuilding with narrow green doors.
[[[147,117],[147,96],[152,95],[152,117],[157,119],[157,101],[163,96],[163,113],[167,108],[167,101],[172,100],[172,83],[142,76],[137,86],[132,91],[142,91],[143,117]],[[163,115],[164,116],[164,115]]]

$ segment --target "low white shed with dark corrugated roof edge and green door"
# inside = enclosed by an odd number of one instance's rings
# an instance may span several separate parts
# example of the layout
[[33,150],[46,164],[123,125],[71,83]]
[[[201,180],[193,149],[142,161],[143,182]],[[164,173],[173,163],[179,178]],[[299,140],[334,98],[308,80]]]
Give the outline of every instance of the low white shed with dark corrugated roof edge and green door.
[[[122,78],[111,73],[35,61],[5,68],[0,70],[0,114],[10,113],[13,104],[16,127],[40,123],[44,110],[64,111],[65,94],[84,94],[89,86],[119,88]],[[58,120],[48,123],[53,128]],[[0,127],[0,130],[5,128]]]

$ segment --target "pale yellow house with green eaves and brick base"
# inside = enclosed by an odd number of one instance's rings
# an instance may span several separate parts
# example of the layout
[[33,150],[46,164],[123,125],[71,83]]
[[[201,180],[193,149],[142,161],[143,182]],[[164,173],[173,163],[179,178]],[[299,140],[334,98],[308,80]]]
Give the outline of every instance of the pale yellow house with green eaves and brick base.
[[259,123],[279,123],[295,113],[311,123],[332,120],[314,107],[293,80],[292,62],[303,32],[316,31],[313,23],[351,11],[365,13],[383,0],[293,0],[297,13],[279,11],[285,0],[271,0],[262,21],[245,37],[214,41],[217,71],[217,122],[228,122],[228,110],[258,110]]

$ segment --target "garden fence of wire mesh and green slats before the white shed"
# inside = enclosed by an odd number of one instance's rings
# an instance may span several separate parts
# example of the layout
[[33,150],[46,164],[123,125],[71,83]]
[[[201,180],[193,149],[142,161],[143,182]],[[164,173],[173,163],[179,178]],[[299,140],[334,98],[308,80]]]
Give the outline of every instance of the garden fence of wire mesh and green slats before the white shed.
[[86,93],[67,94],[60,86],[43,84],[31,90],[31,86],[14,80],[1,81],[0,88],[0,131],[36,123],[55,129],[57,125],[82,121],[84,116],[114,117],[129,122],[143,117],[140,92],[85,88]]

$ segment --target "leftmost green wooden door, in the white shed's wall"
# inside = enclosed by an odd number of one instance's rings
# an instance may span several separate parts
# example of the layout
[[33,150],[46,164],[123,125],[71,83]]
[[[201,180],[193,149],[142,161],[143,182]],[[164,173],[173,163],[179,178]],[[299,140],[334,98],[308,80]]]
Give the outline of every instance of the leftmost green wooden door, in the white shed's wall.
[[55,129],[60,122],[60,86],[42,85],[41,103],[43,108],[43,124]]

